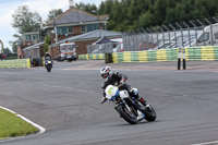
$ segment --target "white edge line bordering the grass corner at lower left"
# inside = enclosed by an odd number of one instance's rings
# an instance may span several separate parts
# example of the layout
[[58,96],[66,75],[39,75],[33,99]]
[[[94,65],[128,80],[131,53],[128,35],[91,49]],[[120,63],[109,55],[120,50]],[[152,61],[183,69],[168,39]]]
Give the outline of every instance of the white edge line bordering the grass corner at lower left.
[[38,132],[37,134],[41,134],[41,133],[45,133],[45,132],[46,132],[46,129],[45,129],[45,128],[43,128],[43,126],[36,124],[35,122],[31,121],[29,119],[25,118],[24,116],[17,114],[17,113],[14,112],[13,110],[11,110],[11,109],[9,109],[9,108],[5,108],[5,107],[2,107],[2,106],[0,106],[0,109],[7,110],[7,111],[9,111],[9,112],[11,112],[11,113],[14,113],[14,114],[16,114],[19,118],[23,119],[24,121],[26,121],[26,122],[31,123],[32,125],[34,125],[35,128],[37,128],[37,129],[39,130],[39,132]]

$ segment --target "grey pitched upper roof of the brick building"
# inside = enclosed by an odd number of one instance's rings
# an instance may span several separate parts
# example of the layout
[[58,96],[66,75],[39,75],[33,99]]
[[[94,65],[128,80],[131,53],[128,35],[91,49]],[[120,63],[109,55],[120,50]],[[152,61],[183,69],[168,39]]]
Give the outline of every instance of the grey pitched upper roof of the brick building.
[[[56,24],[62,25],[72,23],[97,22],[97,21],[106,21],[107,19],[108,15],[98,16],[76,8],[71,8],[56,19]],[[53,25],[53,21],[50,22],[49,25]]]

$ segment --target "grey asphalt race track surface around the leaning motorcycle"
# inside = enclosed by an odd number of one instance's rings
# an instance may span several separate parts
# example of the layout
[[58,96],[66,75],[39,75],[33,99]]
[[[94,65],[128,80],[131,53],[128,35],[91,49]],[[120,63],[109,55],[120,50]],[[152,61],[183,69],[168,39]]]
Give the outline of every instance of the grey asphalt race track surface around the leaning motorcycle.
[[[155,108],[157,120],[130,125],[108,102],[100,105],[104,61],[0,70],[0,106],[47,131],[3,145],[192,145],[218,141],[218,62],[109,64],[129,76]],[[213,143],[209,143],[210,145]],[[214,144],[213,144],[214,145]]]

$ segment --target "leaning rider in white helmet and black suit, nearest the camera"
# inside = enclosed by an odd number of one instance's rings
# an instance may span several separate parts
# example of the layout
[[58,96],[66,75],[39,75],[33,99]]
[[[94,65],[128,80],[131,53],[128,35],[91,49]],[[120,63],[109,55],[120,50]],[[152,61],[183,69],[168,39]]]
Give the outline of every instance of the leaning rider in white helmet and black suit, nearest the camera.
[[125,83],[125,81],[128,80],[126,75],[120,72],[112,72],[109,67],[102,67],[100,69],[100,74],[101,74],[101,77],[105,78],[104,84],[101,86],[102,96],[104,96],[101,98],[101,104],[104,104],[107,100],[106,93],[105,93],[106,87],[108,85],[117,85],[117,86],[119,85],[120,90],[126,89],[130,96],[134,97],[135,99],[141,101],[144,106],[146,106],[147,104],[146,100],[138,96],[138,92],[135,92],[134,89],[132,89],[130,85]]

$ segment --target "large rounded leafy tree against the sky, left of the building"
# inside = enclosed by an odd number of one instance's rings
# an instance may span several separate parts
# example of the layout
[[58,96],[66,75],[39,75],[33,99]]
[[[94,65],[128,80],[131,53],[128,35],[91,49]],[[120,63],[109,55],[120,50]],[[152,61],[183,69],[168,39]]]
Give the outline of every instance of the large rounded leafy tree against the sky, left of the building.
[[37,12],[31,12],[27,5],[19,7],[12,17],[12,26],[16,28],[20,34],[36,32],[40,28],[41,17]]

